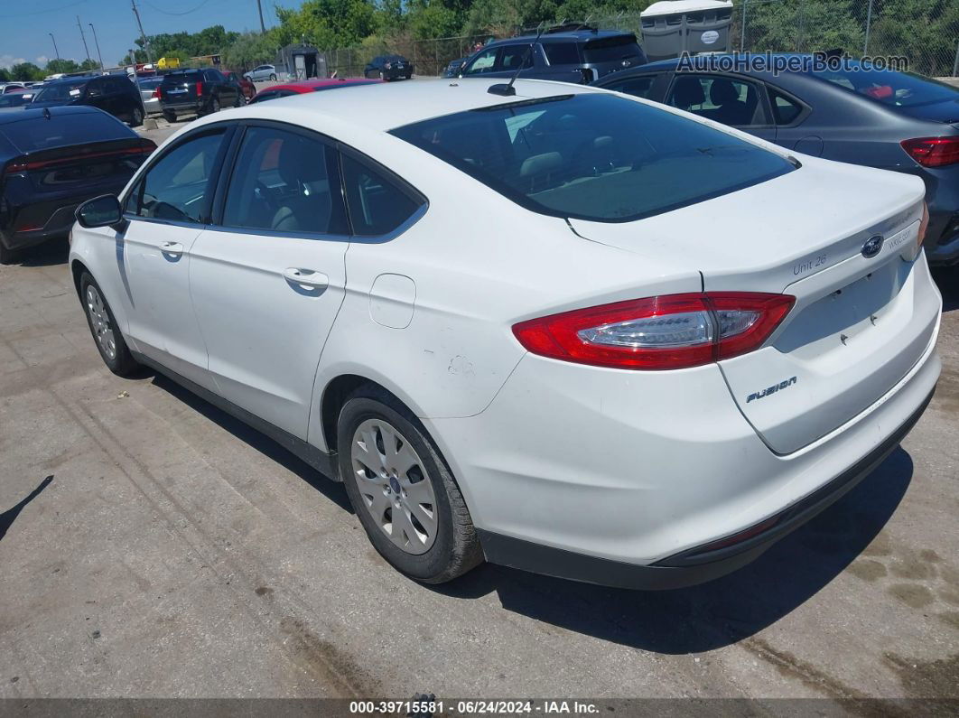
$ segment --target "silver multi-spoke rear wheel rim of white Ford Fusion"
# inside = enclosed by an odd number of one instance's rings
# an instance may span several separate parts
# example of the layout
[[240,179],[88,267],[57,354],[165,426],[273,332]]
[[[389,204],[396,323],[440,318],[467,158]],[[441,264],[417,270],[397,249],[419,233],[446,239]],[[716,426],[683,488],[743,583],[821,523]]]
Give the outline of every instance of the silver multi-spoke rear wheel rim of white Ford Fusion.
[[418,555],[436,540],[436,496],[422,459],[395,427],[367,419],[350,450],[363,507],[392,544]]

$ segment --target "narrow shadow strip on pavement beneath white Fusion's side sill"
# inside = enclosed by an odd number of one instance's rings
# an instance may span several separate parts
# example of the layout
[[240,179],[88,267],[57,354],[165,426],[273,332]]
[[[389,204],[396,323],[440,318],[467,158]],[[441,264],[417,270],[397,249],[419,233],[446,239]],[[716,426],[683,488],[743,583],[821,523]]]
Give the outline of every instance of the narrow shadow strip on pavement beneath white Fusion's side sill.
[[177,400],[183,402],[185,405],[189,405],[190,408],[198,411],[210,421],[220,425],[220,427],[229,431],[240,439],[240,441],[245,442],[256,451],[267,456],[271,461],[275,461],[283,468],[292,472],[292,474],[299,476],[324,497],[336,503],[339,508],[351,514],[353,513],[350,499],[347,498],[346,490],[339,481],[332,481],[320,474],[312,466],[294,456],[291,452],[288,452],[266,434],[247,426],[244,422],[227,414],[222,409],[210,404],[189,389],[183,388],[162,374],[154,373],[152,382],[157,388],[172,394]]

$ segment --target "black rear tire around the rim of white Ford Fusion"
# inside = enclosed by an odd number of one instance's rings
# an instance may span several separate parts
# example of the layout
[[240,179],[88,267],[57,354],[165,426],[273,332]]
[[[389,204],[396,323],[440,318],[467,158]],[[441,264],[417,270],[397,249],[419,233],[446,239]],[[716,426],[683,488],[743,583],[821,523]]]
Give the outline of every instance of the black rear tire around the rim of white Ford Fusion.
[[[432,483],[437,529],[433,545],[425,553],[411,554],[393,544],[365,506],[350,450],[354,432],[368,419],[384,421],[398,429],[419,455],[426,469],[425,480]],[[346,494],[370,543],[389,564],[417,581],[441,584],[482,563],[479,537],[453,473],[423,425],[396,397],[377,386],[357,389],[339,411],[337,436],[339,472]]]

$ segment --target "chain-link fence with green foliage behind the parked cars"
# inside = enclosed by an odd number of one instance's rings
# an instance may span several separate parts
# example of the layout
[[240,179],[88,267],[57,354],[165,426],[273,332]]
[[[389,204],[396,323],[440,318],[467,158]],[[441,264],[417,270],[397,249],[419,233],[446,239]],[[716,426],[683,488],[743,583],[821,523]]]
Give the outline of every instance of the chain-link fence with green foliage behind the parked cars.
[[[641,0],[648,5],[651,0]],[[598,15],[561,24],[626,30],[642,37],[639,12]],[[515,28],[515,34],[535,28]],[[730,48],[744,52],[809,53],[842,48],[854,57],[894,56],[932,77],[959,76],[959,0],[735,0]],[[490,35],[412,40],[392,38],[327,53],[340,77],[363,74],[377,55],[402,55],[418,75],[440,75]]]

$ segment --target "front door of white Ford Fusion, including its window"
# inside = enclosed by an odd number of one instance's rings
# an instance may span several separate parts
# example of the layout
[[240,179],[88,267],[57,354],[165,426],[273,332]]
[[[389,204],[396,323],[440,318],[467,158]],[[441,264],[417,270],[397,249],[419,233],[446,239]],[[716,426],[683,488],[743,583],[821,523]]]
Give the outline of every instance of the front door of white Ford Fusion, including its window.
[[212,388],[190,298],[191,251],[209,220],[230,129],[204,127],[152,158],[126,197],[129,336],[177,374]]

